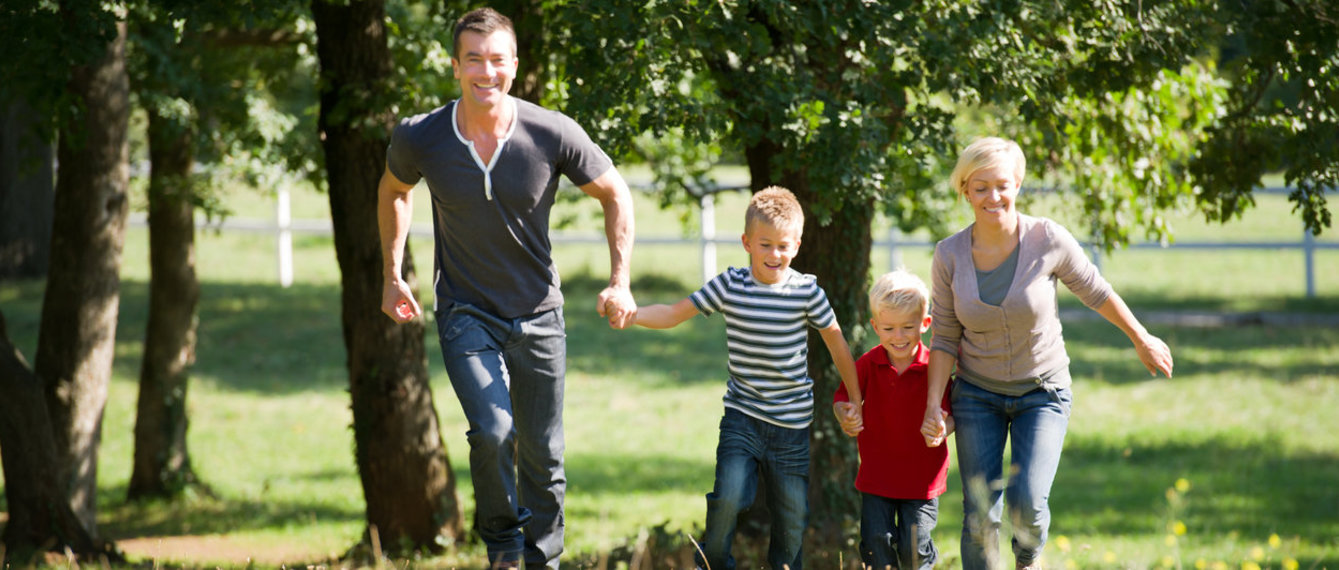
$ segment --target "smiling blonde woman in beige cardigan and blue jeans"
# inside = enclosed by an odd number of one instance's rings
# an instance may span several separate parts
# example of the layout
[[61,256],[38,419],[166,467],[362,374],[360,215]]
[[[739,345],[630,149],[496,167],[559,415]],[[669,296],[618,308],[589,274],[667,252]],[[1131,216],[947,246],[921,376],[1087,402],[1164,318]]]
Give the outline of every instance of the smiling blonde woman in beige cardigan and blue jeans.
[[[1144,329],[1074,235],[1015,209],[1026,165],[1012,140],[986,138],[963,151],[951,183],[972,206],[975,222],[939,242],[931,269],[933,341],[921,432],[927,444],[943,443],[940,400],[956,365],[949,401],[967,570],[998,565],[1002,498],[1010,507],[1016,567],[1038,567],[1046,545],[1047,496],[1071,403],[1056,280],[1130,337],[1149,373],[1172,376],[1166,343]],[[1006,439],[1012,446],[1007,479]]]

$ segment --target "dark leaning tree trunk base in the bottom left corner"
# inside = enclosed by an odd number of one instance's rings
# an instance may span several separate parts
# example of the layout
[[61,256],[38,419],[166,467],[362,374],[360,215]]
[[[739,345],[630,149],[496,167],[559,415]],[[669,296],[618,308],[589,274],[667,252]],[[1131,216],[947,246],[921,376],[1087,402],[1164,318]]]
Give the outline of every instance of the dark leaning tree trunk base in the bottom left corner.
[[0,566],[27,567],[46,550],[64,550],[83,559],[123,562],[114,545],[94,537],[70,508],[66,471],[56,454],[42,381],[9,341],[0,314],[0,462],[9,520],[0,541]]

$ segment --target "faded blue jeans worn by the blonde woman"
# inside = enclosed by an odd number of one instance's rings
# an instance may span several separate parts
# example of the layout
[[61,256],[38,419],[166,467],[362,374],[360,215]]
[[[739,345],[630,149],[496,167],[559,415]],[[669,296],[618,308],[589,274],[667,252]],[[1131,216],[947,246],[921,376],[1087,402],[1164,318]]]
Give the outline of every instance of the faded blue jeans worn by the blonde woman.
[[[1040,557],[1051,525],[1047,498],[1060,463],[1071,401],[1069,388],[1003,396],[968,381],[953,383],[964,570],[998,567],[1002,498],[1008,502],[1014,526],[1015,563],[1030,565]],[[1006,438],[1012,460],[1007,479]]]

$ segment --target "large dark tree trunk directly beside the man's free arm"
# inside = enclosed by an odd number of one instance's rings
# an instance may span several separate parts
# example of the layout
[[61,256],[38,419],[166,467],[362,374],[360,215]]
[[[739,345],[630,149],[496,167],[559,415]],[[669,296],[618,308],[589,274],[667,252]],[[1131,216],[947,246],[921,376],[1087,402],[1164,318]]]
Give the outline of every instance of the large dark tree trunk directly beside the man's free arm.
[[[382,1],[312,3],[321,64],[319,124],[340,265],[353,447],[368,531],[391,551],[439,551],[463,534],[455,476],[437,423],[424,320],[380,312],[376,185],[386,166],[391,55]],[[406,252],[404,280],[416,288]]]

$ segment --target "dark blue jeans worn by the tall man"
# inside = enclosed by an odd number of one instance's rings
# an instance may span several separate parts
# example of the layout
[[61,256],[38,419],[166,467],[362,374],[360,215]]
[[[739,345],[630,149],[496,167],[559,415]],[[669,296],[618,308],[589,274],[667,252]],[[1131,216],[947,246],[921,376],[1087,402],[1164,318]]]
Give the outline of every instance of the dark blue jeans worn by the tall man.
[[442,359],[470,430],[474,529],[489,561],[558,567],[562,554],[562,309],[499,318],[454,304],[437,314]]

